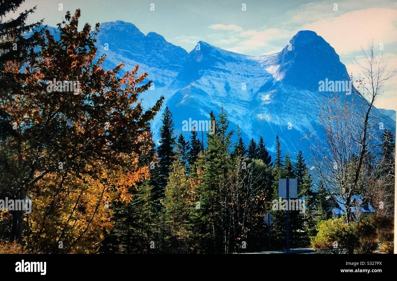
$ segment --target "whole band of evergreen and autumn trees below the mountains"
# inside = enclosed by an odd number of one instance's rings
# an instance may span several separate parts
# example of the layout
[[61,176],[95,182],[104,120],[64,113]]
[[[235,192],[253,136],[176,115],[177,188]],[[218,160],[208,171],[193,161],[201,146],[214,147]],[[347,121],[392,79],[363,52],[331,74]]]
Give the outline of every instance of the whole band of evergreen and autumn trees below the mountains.
[[[3,19],[23,0],[0,2]],[[289,155],[278,135],[274,153],[263,138],[244,143],[224,108],[208,112],[206,132],[193,126],[185,138],[164,107],[155,143],[150,122],[164,97],[142,107],[147,74],[138,65],[124,71],[122,62],[105,70],[95,46],[100,25],[79,28],[80,10],[58,24],[59,40],[42,22],[25,23],[34,11],[0,21],[0,199],[29,197],[32,205],[31,213],[0,210],[0,253],[285,249],[286,212],[273,207],[283,178],[297,179],[304,202],[290,212],[291,248],[393,252],[395,136],[373,133],[369,114],[351,122],[352,101],[330,97],[319,115],[334,154]],[[77,81],[78,90],[48,87],[52,81]],[[353,137],[356,146],[347,144]],[[375,211],[359,212],[355,195]],[[335,196],[344,214],[332,211]]]

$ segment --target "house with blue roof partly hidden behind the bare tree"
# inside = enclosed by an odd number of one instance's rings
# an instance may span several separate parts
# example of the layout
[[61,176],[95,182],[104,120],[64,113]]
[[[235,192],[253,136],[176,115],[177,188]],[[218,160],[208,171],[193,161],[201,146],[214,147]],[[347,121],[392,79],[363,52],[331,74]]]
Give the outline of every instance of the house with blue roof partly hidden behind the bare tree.
[[[339,195],[331,195],[330,200],[331,208],[328,212],[332,212],[333,215],[338,218],[346,214],[345,199]],[[368,201],[362,197],[361,194],[354,194],[351,197],[351,213],[354,217],[358,217],[360,214],[370,214],[376,212],[376,210],[368,203]]]

